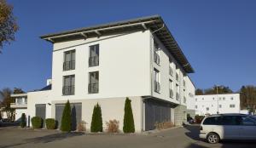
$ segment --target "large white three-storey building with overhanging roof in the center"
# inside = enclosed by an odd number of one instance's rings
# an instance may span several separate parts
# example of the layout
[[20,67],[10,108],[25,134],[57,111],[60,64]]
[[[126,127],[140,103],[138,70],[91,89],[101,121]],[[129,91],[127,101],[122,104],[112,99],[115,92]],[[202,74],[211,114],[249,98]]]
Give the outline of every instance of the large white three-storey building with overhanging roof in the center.
[[61,122],[69,100],[76,121],[90,128],[99,103],[103,124],[116,119],[122,129],[129,97],[137,132],[153,129],[155,122],[181,125],[186,119],[187,101],[195,94],[187,74],[194,70],[160,16],[41,38],[53,43],[52,79],[43,90],[27,93],[28,118]]

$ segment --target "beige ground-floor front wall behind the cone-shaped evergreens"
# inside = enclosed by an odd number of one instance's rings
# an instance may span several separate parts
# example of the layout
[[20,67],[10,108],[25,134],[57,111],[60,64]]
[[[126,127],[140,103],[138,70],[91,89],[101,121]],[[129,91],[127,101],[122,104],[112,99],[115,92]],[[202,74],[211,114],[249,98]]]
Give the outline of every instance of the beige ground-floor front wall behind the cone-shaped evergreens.
[[[129,97],[131,100],[131,108],[136,132],[142,132],[143,129],[143,102],[141,97]],[[56,100],[52,102],[52,117],[55,117],[55,104],[66,103],[67,100]],[[103,129],[106,129],[106,122],[116,119],[119,121],[119,130],[123,131],[123,121],[125,114],[125,98],[106,98],[93,100],[71,100],[71,103],[82,103],[82,120],[86,122],[86,128],[90,131],[90,122],[93,107],[98,103],[102,108]]]

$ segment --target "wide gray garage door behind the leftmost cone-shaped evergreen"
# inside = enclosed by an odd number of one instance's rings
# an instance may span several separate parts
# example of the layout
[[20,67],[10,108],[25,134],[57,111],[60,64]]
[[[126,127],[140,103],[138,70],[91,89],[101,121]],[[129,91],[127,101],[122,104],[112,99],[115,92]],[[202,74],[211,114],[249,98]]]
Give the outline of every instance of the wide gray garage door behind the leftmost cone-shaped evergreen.
[[[82,118],[82,103],[72,103],[71,105],[71,121],[72,130],[76,130],[77,124]],[[55,120],[58,122],[58,128],[61,127],[61,117],[65,104],[55,104]]]

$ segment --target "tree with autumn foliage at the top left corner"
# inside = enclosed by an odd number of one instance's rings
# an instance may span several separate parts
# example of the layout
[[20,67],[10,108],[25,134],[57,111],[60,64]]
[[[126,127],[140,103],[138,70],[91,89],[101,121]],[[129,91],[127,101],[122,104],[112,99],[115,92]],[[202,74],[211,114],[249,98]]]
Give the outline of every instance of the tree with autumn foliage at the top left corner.
[[3,48],[4,43],[15,41],[15,32],[18,29],[13,6],[6,3],[6,0],[0,0],[0,49]]

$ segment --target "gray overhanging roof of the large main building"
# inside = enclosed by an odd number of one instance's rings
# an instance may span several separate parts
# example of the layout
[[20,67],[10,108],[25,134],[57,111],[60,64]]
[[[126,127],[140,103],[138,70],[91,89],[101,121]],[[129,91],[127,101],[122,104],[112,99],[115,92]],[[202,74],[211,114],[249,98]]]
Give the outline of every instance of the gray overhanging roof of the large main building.
[[183,70],[187,73],[193,73],[194,70],[189,64],[189,61],[183,54],[181,48],[179,48],[174,37],[172,37],[171,31],[167,28],[164,20],[160,15],[153,15],[143,18],[137,18],[133,20],[124,20],[99,26],[90,26],[71,31],[61,31],[58,33],[47,34],[41,36],[41,38],[51,42],[61,42],[70,39],[83,38],[83,37],[97,37],[114,33],[117,31],[132,31],[132,30],[146,30],[150,29],[160,39],[161,43],[165,45],[171,52],[177,62],[183,66]]

